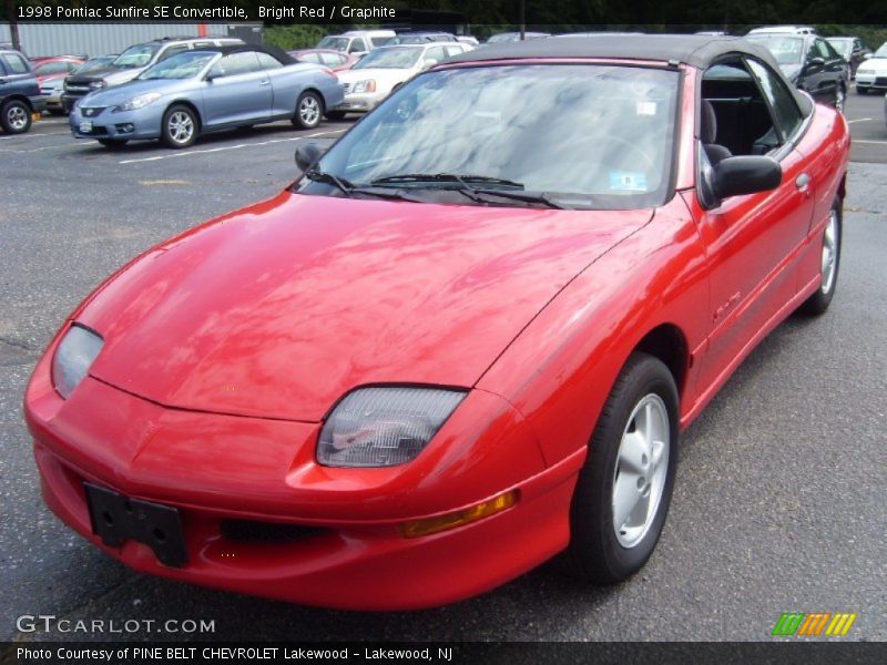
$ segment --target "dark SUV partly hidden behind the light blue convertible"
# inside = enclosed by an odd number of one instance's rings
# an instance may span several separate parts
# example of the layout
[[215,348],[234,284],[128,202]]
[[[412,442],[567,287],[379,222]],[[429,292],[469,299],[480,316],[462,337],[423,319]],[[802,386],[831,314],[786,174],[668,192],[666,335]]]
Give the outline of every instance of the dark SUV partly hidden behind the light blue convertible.
[[182,51],[237,44],[243,44],[243,40],[228,37],[166,37],[134,44],[103,70],[68,76],[64,80],[62,106],[70,111],[88,93],[132,81],[152,64]]

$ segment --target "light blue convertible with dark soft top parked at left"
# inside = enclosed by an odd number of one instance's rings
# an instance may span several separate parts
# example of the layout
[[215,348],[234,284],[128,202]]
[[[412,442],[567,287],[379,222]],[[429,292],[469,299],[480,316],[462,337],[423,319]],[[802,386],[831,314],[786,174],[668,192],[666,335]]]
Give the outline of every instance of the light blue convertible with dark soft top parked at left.
[[109,147],[135,139],[187,147],[203,133],[278,120],[313,129],[341,101],[328,69],[276,49],[214,47],[172,55],[129,83],[85,95],[69,122],[75,137]]

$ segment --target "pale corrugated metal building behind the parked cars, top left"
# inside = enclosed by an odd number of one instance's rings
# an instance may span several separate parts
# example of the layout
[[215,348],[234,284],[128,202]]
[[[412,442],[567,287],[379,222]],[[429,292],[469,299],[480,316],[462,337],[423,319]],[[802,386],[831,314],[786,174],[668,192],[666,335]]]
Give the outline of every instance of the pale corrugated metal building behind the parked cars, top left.
[[[132,44],[162,37],[239,37],[263,41],[262,23],[19,23],[19,40],[28,58],[120,53]],[[0,43],[11,42],[9,23],[0,22]]]

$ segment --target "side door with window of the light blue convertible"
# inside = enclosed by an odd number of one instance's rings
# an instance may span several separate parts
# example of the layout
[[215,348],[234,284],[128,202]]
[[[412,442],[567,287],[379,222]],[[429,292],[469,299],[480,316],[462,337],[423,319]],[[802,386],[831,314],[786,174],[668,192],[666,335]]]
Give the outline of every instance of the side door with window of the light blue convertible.
[[271,117],[272,88],[255,51],[223,55],[203,83],[203,123],[214,129]]

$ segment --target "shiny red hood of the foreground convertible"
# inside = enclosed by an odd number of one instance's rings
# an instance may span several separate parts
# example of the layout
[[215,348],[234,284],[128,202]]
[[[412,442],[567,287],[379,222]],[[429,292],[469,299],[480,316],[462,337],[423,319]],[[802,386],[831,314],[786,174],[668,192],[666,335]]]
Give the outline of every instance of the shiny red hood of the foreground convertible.
[[316,422],[360,385],[472,386],[651,218],[284,192],[146,253],[77,318],[104,338],[99,380],[182,409]]

